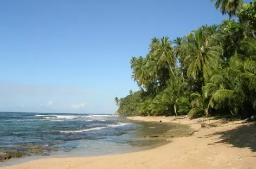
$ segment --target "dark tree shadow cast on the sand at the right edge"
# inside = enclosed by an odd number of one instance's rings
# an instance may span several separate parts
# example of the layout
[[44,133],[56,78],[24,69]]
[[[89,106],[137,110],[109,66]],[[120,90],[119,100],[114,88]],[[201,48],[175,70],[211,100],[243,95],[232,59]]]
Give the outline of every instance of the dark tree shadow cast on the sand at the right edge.
[[[232,144],[233,147],[245,148],[248,147],[251,151],[256,151],[256,124],[238,126],[225,132],[216,132],[206,137],[213,135],[221,135],[220,140],[213,144],[225,143]],[[209,145],[213,145],[209,144]]]

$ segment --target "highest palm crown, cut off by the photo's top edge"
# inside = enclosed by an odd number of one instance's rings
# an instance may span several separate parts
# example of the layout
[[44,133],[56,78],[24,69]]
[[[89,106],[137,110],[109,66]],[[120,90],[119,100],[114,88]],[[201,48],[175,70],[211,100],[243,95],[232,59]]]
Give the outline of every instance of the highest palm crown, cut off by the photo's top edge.
[[222,15],[228,15],[229,18],[235,17],[236,12],[242,8],[242,0],[210,0],[215,2],[215,9],[220,8]]

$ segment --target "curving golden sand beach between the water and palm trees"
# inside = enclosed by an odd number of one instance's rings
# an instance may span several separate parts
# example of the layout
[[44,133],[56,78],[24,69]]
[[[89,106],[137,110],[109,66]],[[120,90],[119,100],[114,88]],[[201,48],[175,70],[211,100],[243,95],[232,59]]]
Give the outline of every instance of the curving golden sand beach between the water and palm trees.
[[256,126],[241,121],[201,128],[198,119],[132,117],[132,120],[177,122],[198,130],[190,137],[171,139],[167,145],[127,154],[89,158],[52,158],[29,161],[1,169],[94,169],[94,168],[256,168]]

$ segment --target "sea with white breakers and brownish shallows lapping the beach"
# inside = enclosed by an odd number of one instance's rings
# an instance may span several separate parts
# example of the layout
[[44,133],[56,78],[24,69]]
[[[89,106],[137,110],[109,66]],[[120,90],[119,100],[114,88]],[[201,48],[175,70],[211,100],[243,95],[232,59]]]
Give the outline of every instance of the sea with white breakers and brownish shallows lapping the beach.
[[[28,152],[0,166],[52,157],[88,157],[120,154],[165,144],[187,135],[179,124],[135,122],[123,116],[94,114],[0,113],[0,148]],[[31,153],[31,149],[41,153]]]

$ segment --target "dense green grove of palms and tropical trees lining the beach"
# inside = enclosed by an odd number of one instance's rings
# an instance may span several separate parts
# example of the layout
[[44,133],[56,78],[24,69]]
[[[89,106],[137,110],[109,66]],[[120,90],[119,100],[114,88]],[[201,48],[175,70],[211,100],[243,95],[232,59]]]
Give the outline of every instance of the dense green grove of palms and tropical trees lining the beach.
[[139,91],[115,101],[120,115],[191,118],[256,113],[256,0],[211,0],[229,19],[184,37],[154,37],[130,60]]

